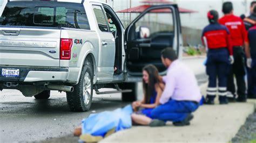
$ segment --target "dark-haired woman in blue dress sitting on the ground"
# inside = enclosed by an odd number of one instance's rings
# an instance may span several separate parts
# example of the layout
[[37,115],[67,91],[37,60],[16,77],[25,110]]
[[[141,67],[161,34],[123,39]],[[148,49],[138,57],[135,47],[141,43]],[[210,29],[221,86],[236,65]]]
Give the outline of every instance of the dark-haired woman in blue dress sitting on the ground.
[[[143,68],[143,92],[142,101],[132,103],[132,108],[137,111],[132,114],[132,120],[136,124],[149,125],[151,121],[151,111],[158,106],[160,96],[164,90],[164,84],[159,81],[158,70],[153,65]],[[142,110],[139,110],[142,108]],[[147,118],[149,117],[149,118]]]

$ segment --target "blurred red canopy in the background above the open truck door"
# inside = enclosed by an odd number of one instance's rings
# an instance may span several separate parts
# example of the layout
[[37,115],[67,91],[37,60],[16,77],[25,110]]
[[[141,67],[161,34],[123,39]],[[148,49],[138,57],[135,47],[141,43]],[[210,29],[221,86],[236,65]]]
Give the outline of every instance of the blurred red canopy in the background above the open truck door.
[[[165,1],[165,0],[158,0],[158,2],[159,1]],[[153,1],[150,1],[150,2],[153,2]],[[140,6],[136,6],[134,8],[131,8],[131,9],[120,10],[120,11],[117,11],[117,12],[119,12],[119,13],[142,13],[147,8],[150,8],[150,6],[152,6],[152,5],[140,5]],[[169,13],[170,9],[159,9],[159,10],[153,10],[152,12],[153,13],[166,13],[166,12]],[[193,12],[197,12],[197,11],[179,8],[179,12],[180,13],[193,13]]]

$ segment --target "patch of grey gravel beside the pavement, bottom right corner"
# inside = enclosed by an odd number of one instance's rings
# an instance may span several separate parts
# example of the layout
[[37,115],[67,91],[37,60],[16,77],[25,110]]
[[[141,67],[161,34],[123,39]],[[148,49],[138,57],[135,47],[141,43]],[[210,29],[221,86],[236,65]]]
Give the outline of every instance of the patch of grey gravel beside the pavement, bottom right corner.
[[245,124],[241,126],[232,142],[256,142],[256,113],[246,119]]

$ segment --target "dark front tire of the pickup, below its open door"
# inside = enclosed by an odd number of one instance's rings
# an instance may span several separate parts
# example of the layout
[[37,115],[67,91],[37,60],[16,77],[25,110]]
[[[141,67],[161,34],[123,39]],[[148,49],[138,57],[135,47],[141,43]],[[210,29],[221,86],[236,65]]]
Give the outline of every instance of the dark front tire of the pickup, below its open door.
[[138,84],[137,83],[123,83],[120,85],[120,88],[131,89],[132,92],[122,93],[122,101],[123,102],[133,102],[137,100],[138,95]]

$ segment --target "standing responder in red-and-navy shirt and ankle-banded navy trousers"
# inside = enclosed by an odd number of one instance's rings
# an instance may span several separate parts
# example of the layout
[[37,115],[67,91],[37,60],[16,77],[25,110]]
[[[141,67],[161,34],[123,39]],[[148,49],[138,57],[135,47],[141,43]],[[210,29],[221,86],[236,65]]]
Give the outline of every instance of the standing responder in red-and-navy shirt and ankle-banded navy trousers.
[[[227,104],[227,71],[230,62],[233,63],[233,49],[230,44],[230,32],[226,26],[218,23],[218,12],[207,13],[210,24],[203,30],[202,41],[208,48],[206,73],[209,76],[206,104],[214,104],[214,98],[219,92],[220,104]],[[231,61],[230,61],[230,60]],[[218,77],[218,90],[217,90]]]

